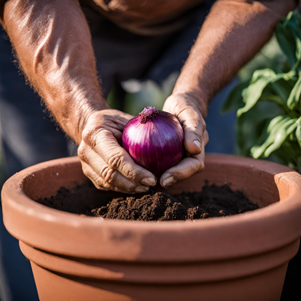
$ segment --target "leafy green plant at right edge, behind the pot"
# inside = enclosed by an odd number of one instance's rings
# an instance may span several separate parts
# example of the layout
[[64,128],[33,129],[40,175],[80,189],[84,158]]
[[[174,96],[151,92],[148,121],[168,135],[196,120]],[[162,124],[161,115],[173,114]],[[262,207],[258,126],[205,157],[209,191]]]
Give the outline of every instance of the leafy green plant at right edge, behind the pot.
[[277,160],[301,172],[301,15],[290,12],[275,33],[287,62],[278,57],[274,70],[254,71],[250,82],[231,91],[222,113],[237,110],[240,155]]

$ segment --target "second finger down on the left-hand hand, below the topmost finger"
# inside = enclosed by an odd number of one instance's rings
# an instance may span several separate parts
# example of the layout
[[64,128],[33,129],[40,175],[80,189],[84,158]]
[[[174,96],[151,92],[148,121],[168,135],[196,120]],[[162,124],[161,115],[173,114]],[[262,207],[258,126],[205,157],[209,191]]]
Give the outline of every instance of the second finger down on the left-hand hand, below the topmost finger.
[[108,166],[107,163],[95,153],[95,151],[92,151],[91,148],[87,147],[85,158],[82,159],[84,159],[83,161],[92,168],[93,172],[100,176],[107,184],[137,193],[144,193],[149,189],[149,186],[135,184],[119,171]]

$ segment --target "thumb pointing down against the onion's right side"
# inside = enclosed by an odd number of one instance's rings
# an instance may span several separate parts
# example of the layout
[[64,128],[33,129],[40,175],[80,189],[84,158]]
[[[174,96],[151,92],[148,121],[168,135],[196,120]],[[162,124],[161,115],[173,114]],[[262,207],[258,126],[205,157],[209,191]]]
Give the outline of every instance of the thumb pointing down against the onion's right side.
[[203,133],[206,129],[203,117],[193,107],[187,107],[177,117],[183,125],[186,151],[192,155],[200,154],[203,146]]

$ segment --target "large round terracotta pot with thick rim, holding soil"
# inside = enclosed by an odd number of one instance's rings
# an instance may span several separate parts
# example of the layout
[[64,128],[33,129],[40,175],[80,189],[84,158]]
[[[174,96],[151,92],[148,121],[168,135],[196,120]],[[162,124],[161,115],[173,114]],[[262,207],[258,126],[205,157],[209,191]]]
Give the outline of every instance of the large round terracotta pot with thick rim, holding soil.
[[36,203],[86,181],[71,157],[12,176],[2,189],[4,224],[31,262],[41,301],[279,300],[301,236],[301,175],[268,161],[208,154],[202,173],[165,191],[200,191],[205,180],[231,183],[262,208],[136,222]]

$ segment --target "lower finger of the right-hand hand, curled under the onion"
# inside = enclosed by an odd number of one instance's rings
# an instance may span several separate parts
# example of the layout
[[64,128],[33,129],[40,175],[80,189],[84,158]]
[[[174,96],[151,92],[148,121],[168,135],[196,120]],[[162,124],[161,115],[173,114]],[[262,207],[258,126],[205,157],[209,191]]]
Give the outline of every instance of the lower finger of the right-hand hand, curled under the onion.
[[204,160],[205,147],[200,154],[184,158],[176,166],[166,170],[160,178],[160,185],[167,188],[201,172],[205,167]]

